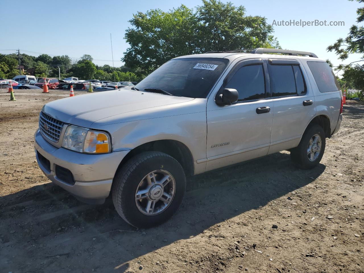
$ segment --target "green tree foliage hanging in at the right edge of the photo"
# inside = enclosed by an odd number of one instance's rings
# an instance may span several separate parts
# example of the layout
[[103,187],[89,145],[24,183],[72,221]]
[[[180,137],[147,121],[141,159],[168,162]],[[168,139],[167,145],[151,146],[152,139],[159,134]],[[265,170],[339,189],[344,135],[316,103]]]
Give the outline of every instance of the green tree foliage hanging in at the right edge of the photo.
[[[353,1],[353,0],[350,0]],[[356,0],[363,3],[364,0]],[[364,7],[358,8],[357,23],[364,21]],[[350,54],[359,53],[363,54],[359,60],[349,64],[340,64],[335,70],[343,70],[343,80],[352,83],[356,88],[361,90],[361,99],[364,99],[364,27],[362,25],[352,25],[349,29],[348,36],[343,39],[339,38],[337,41],[328,46],[329,52],[334,51],[339,56],[338,59],[344,61]]]

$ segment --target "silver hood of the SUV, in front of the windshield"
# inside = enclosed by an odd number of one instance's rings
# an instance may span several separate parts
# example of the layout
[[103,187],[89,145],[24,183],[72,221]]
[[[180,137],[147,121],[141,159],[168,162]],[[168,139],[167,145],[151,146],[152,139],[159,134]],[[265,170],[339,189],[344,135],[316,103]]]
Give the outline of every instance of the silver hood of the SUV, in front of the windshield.
[[145,118],[151,118],[151,112],[158,112],[158,107],[191,100],[194,99],[121,89],[55,100],[44,105],[42,111],[63,122],[90,128],[96,121],[100,121],[98,126],[105,124],[105,119],[108,123],[126,122],[143,113]]

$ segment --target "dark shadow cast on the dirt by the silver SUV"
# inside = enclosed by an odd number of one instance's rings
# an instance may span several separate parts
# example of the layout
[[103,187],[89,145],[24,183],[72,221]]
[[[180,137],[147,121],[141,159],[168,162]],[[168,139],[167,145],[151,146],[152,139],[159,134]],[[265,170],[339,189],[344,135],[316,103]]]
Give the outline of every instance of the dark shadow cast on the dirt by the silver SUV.
[[[1,253],[5,247],[0,248],[0,264],[9,271],[19,267],[21,272],[137,272],[138,265],[131,260],[265,206],[308,185],[325,170],[323,164],[299,170],[289,157],[281,152],[188,178],[185,199],[174,217],[146,230],[124,222],[110,200],[104,205],[86,205],[51,183],[0,197],[0,218],[4,219],[0,230],[19,227],[14,235],[6,232],[0,237],[3,245],[13,245],[12,252]],[[29,254],[33,244],[44,246]],[[60,257],[48,257],[52,255]],[[22,268],[27,257],[31,267]]]

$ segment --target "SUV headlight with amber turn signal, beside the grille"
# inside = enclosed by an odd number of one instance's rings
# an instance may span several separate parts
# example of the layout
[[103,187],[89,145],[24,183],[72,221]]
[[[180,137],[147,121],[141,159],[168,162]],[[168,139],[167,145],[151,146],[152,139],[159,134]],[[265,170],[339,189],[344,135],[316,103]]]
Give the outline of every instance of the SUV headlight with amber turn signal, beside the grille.
[[67,126],[62,147],[90,154],[103,154],[111,151],[110,137],[106,132],[74,125]]

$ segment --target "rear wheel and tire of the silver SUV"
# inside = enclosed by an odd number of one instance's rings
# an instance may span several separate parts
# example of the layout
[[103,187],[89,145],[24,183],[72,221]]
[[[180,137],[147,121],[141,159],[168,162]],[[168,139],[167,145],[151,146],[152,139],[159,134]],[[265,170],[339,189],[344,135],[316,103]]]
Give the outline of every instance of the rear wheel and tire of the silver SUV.
[[300,144],[291,149],[291,159],[300,169],[312,169],[320,163],[325,146],[324,129],[318,124],[313,124],[304,132]]

